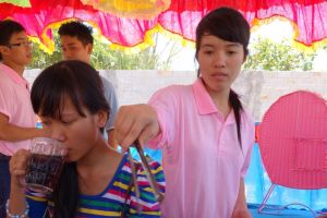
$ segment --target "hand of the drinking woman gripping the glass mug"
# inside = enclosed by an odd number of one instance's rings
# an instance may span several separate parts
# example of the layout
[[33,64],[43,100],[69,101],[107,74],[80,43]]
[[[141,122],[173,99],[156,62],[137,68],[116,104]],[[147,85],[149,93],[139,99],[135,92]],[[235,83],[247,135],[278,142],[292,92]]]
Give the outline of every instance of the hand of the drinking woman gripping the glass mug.
[[24,187],[24,184],[21,181],[26,174],[29,156],[29,150],[20,149],[11,157],[9,162],[11,185],[14,185],[15,187]]

